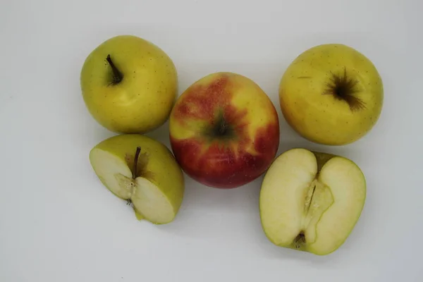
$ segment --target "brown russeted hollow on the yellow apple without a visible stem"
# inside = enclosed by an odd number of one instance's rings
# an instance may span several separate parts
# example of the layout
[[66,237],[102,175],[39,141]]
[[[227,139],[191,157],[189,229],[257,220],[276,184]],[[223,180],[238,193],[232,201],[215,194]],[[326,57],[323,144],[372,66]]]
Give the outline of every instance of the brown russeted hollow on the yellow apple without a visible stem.
[[344,67],[342,74],[331,73],[330,82],[327,84],[324,94],[330,94],[335,99],[345,101],[350,106],[351,111],[366,109],[365,103],[355,94],[358,81],[347,75],[347,68]]

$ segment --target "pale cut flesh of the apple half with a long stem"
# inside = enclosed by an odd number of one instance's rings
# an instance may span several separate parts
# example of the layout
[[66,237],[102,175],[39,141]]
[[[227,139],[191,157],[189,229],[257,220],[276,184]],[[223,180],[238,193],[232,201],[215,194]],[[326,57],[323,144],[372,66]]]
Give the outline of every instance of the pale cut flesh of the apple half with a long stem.
[[158,224],[173,220],[175,212],[166,195],[147,178],[138,176],[134,179],[125,159],[102,149],[93,149],[90,158],[94,171],[106,188],[132,202],[137,219],[145,218]]

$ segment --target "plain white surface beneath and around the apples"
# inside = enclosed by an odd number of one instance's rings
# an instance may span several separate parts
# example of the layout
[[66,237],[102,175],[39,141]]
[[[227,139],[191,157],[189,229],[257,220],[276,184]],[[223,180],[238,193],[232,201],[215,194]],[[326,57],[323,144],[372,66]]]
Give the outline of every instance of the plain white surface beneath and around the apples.
[[[2,1],[0,8],[0,281],[422,281],[423,2]],[[114,35],[158,44],[180,92],[215,71],[255,80],[281,118],[279,152],[307,147],[350,157],[367,202],[347,242],[317,257],[276,247],[259,222],[262,178],[236,190],[186,178],[166,226],[137,222],[88,161],[114,135],[89,116],[79,75]],[[326,42],[369,56],[384,79],[381,118],[353,145],[314,145],[277,104],[295,56]],[[168,145],[167,123],[149,135]]]

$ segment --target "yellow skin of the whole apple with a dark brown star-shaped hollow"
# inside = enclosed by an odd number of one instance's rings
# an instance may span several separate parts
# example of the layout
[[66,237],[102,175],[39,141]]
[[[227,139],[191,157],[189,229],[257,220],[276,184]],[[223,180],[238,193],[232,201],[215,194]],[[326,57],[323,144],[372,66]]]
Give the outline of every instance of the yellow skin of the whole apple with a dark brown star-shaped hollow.
[[[328,93],[333,75],[354,85],[360,105]],[[343,44],[322,44],[303,52],[288,66],[279,84],[281,111],[302,137],[324,145],[345,145],[371,130],[381,114],[384,88],[375,66]]]

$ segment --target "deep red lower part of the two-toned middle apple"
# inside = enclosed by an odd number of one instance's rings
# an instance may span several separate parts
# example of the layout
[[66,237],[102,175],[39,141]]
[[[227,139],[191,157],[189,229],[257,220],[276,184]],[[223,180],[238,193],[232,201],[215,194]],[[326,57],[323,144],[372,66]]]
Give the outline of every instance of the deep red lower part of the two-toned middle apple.
[[254,140],[256,154],[243,151],[241,142],[237,152],[231,147],[212,142],[205,152],[204,143],[191,138],[174,140],[171,146],[176,159],[188,176],[215,188],[236,188],[259,177],[269,168],[279,143],[277,123],[259,128]]

